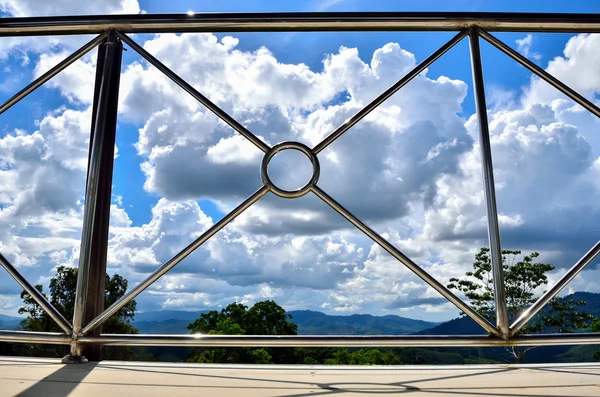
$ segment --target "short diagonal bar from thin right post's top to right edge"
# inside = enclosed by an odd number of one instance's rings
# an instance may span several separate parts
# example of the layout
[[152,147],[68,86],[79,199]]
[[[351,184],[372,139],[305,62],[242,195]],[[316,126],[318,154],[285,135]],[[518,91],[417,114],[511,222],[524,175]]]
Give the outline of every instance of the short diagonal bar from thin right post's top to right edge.
[[556,88],[557,90],[574,100],[576,103],[593,113],[596,117],[600,117],[600,108],[598,108],[598,106],[594,105],[592,102],[587,100],[581,94],[575,92],[571,87],[569,87],[556,77],[552,76],[550,73],[546,72],[544,69],[531,62],[529,59],[525,58],[523,55],[519,54],[517,51],[513,50],[512,48],[510,48],[509,46],[507,46],[502,41],[498,40],[496,37],[492,36],[488,32],[477,28],[477,33],[479,34],[479,36],[483,37],[488,43],[490,43],[491,45],[493,45],[494,47],[496,47],[497,49],[499,49],[500,51],[517,61],[518,63],[520,63],[521,65],[525,66],[527,69],[529,69],[529,71],[536,74],[542,80],[544,80],[545,82],[547,82],[548,84],[550,84],[551,86],[553,86],[554,88]]

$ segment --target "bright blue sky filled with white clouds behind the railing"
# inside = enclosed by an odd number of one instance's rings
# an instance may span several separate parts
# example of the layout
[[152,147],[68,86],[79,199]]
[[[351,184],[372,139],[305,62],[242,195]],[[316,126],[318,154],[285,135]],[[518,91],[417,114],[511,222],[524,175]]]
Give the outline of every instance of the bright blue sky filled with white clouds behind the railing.
[[[595,1],[246,1],[60,5],[0,0],[4,16],[269,11],[600,11]],[[68,4],[67,4],[68,3]],[[61,8],[63,7],[63,8]],[[453,33],[136,35],[268,144],[314,146]],[[497,37],[597,102],[595,35]],[[0,100],[87,37],[0,38]],[[564,269],[596,241],[598,121],[482,42],[501,231],[507,248]],[[95,55],[1,115],[0,251],[34,282],[76,266]],[[261,185],[256,149],[129,50],[123,58],[109,271],[131,284]],[[486,245],[468,41],[322,152],[319,185],[442,280]],[[283,158],[283,157],[282,157]],[[301,184],[302,159],[275,176]],[[2,226],[4,225],[4,226]],[[593,265],[595,266],[595,264]],[[571,290],[596,292],[595,267]],[[0,313],[18,287],[0,278]],[[288,309],[457,315],[316,200],[265,197],[138,298],[141,310],[275,299]]]

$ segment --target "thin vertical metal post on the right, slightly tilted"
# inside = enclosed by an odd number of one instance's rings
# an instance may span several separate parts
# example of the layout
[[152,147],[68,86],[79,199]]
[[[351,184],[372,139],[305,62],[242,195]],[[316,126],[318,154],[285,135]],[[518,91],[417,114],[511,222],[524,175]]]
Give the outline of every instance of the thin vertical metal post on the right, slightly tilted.
[[496,304],[496,327],[504,339],[510,337],[506,293],[504,290],[504,270],[502,266],[502,250],[500,248],[500,228],[498,226],[498,209],[496,208],[496,189],[494,186],[494,169],[492,166],[492,148],[487,119],[487,105],[481,66],[481,51],[477,28],[469,32],[471,45],[471,67],[473,69],[473,86],[475,108],[479,124],[479,146],[481,148],[481,168],[483,171],[483,188],[487,204],[488,237],[490,243],[490,260],[494,281],[494,300]]

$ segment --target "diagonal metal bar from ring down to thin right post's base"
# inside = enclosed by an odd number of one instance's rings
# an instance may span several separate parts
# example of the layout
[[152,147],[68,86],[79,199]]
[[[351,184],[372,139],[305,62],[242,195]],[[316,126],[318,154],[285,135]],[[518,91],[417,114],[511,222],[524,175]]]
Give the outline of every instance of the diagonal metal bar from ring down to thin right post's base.
[[400,252],[396,247],[390,244],[386,239],[381,237],[376,231],[371,229],[365,223],[363,223],[360,219],[355,217],[350,211],[344,208],[340,203],[335,201],[333,197],[325,193],[321,190],[317,185],[311,188],[311,191],[323,200],[327,205],[333,208],[338,214],[346,218],[350,223],[356,226],[361,232],[366,234],[371,238],[374,242],[376,242],[381,248],[386,250],[390,255],[400,261],[404,266],[409,268],[413,273],[419,276],[423,281],[429,284],[433,289],[439,292],[444,298],[448,299],[452,302],[456,307],[462,310],[467,316],[471,317],[473,321],[479,324],[483,329],[495,336],[501,336],[498,333],[496,327],[490,324],[485,318],[483,318],[479,313],[473,310],[469,305],[460,300],[456,295],[452,293],[448,288],[446,288],[443,284],[437,281],[433,276],[423,270],[419,265],[414,263],[409,257]]

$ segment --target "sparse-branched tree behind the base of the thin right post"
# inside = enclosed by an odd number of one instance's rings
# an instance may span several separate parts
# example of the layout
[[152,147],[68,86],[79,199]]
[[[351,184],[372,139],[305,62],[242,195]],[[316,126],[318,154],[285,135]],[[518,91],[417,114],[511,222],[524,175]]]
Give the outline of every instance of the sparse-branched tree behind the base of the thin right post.
[[[496,308],[489,253],[489,248],[481,248],[475,255],[473,271],[466,272],[462,279],[451,278],[448,288],[462,292],[470,300],[471,307],[475,311],[495,323]],[[536,258],[539,257],[537,252],[532,252],[522,258],[520,256],[520,250],[502,251],[509,322],[514,321],[538,299],[539,289],[548,284],[546,274],[554,270],[554,266],[548,263],[537,262]],[[578,311],[578,308],[585,304],[585,301],[576,302],[555,298],[529,324],[523,327],[520,333],[571,333],[587,328],[593,316]],[[461,314],[464,315],[464,313]],[[532,348],[512,347],[508,351],[519,363]]]

